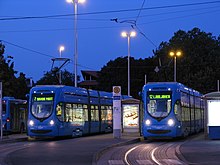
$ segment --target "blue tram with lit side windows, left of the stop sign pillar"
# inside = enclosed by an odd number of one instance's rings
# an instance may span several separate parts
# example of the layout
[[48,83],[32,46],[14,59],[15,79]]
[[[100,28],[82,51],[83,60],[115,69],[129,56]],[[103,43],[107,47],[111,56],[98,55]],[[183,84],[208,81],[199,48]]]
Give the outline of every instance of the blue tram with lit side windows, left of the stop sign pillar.
[[112,93],[70,86],[36,86],[29,95],[28,136],[112,132]]

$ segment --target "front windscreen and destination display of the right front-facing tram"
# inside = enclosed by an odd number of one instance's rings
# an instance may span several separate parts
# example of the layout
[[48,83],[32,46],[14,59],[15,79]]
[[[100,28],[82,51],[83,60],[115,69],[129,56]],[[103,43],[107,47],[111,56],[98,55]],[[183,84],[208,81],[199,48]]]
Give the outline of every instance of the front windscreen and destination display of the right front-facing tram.
[[171,111],[171,93],[148,93],[148,113],[161,118],[168,116]]

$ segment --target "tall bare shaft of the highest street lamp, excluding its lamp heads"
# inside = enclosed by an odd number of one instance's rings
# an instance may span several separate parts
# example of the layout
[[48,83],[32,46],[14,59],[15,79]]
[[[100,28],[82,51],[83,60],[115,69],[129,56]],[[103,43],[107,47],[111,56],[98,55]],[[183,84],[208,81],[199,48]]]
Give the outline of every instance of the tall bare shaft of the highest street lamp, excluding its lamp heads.
[[75,70],[75,87],[77,87],[77,59],[78,59],[78,34],[77,34],[77,3],[78,1],[74,1],[74,39],[75,39],[75,53],[74,53],[74,70]]

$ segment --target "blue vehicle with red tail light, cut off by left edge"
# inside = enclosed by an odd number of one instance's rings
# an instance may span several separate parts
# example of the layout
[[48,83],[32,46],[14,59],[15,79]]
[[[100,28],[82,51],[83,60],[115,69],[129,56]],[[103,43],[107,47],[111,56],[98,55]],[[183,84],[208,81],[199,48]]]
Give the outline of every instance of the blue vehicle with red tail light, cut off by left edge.
[[27,100],[3,97],[3,133],[25,132],[27,123]]

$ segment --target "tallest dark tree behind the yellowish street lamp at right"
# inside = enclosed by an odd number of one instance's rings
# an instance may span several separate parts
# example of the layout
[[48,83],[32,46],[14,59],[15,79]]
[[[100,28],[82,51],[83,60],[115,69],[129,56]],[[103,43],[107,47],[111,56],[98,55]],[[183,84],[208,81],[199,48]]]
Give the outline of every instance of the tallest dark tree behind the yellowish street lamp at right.
[[[170,50],[180,49],[183,56],[177,58],[177,81],[202,93],[216,91],[216,82],[219,76],[220,42],[211,33],[205,33],[198,28],[185,32],[182,30],[174,33],[169,42],[163,42],[155,52],[161,58],[167,79],[173,80],[173,60],[168,56]],[[173,61],[172,61],[173,62]]]

